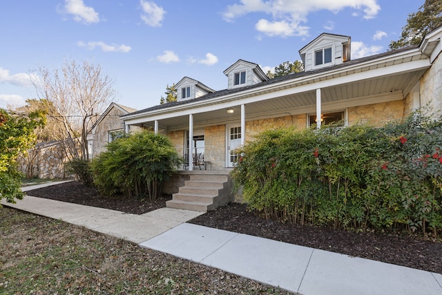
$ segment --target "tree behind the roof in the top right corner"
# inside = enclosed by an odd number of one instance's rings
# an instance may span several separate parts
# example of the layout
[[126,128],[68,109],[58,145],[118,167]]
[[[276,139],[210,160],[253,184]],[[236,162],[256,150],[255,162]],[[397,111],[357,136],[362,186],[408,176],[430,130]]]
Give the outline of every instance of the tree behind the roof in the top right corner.
[[408,15],[407,25],[402,28],[401,38],[390,43],[390,49],[419,45],[423,36],[442,26],[442,1],[425,0],[418,12]]

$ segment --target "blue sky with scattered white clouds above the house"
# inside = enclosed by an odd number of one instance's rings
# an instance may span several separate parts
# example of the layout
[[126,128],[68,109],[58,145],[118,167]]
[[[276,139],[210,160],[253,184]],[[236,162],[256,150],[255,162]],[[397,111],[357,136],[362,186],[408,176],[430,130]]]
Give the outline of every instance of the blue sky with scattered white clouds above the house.
[[322,32],[352,37],[352,59],[387,51],[424,0],[14,0],[0,3],[0,107],[36,97],[29,75],[93,61],[115,102],[160,103],[191,77],[214,90],[238,59],[265,73]]

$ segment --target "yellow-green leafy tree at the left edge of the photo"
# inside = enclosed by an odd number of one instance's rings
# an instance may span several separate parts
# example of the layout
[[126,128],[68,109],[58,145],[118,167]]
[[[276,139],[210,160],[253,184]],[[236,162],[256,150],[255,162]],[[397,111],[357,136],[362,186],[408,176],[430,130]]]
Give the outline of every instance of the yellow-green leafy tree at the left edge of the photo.
[[26,115],[13,115],[0,108],[0,200],[21,200],[21,173],[17,169],[19,153],[35,144],[34,130],[44,126],[46,118],[41,111]]

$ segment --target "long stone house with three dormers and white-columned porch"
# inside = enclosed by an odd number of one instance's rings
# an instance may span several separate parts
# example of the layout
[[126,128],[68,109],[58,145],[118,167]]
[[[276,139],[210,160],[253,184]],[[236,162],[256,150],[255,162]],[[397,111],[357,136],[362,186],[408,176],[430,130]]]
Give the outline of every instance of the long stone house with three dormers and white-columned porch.
[[328,122],[378,126],[426,105],[442,110],[441,36],[439,27],[419,46],[351,60],[350,37],[323,33],[299,50],[302,73],[268,79],[258,64],[239,59],[224,70],[226,89],[212,91],[184,77],[177,102],[122,120],[151,127],[168,136],[178,153],[204,153],[211,169],[226,170],[238,160],[238,146],[266,129]]

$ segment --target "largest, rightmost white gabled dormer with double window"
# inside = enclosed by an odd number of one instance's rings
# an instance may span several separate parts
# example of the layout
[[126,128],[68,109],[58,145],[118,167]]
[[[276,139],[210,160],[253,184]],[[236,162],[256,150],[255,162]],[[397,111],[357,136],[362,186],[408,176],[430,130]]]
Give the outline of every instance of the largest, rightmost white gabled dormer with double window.
[[350,60],[351,38],[323,33],[299,50],[305,71],[335,66]]

